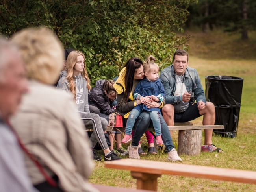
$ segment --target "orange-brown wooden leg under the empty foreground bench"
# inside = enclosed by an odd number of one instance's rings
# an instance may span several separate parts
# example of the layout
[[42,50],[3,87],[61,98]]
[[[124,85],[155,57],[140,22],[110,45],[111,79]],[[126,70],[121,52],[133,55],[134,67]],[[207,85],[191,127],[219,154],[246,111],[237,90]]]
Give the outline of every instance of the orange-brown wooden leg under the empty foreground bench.
[[131,176],[137,179],[137,189],[157,191],[157,178],[161,177],[160,174],[131,172]]

